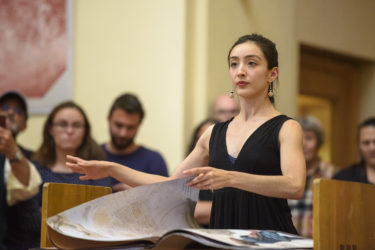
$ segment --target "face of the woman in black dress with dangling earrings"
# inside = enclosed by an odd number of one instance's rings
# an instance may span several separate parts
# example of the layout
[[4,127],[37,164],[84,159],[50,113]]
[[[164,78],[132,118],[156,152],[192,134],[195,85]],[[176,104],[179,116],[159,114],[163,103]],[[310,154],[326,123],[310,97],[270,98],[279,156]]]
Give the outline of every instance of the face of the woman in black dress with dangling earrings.
[[266,97],[268,86],[278,74],[275,67],[269,70],[262,50],[253,42],[245,42],[233,48],[229,57],[229,73],[233,89],[239,96]]

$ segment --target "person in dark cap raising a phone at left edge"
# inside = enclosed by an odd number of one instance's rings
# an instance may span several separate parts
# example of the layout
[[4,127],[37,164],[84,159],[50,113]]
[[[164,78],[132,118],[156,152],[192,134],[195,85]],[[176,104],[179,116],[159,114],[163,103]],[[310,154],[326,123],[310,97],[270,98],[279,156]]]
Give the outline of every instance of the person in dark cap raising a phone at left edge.
[[[37,247],[30,227],[31,198],[39,191],[41,178],[27,158],[28,151],[16,143],[17,135],[26,129],[28,117],[24,97],[8,91],[0,97],[0,249],[28,249]],[[5,118],[5,119],[4,119]],[[30,221],[32,228],[39,228],[40,221]],[[39,240],[39,239],[38,239]],[[6,247],[6,248],[5,248]]]

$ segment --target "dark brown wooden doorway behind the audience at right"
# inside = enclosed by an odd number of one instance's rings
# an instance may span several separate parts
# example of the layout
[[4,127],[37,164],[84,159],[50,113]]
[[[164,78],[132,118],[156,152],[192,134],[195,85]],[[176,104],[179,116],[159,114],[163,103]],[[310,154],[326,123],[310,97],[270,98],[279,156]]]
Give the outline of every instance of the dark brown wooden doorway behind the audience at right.
[[321,120],[326,141],[320,155],[340,168],[358,159],[359,69],[356,59],[301,46],[298,115]]

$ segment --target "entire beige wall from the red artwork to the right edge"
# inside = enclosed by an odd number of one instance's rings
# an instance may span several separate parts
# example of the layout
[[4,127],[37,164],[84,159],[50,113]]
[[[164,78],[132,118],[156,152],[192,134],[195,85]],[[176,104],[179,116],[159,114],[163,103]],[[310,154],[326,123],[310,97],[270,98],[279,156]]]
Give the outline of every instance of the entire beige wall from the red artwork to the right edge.
[[[87,110],[95,138],[108,140],[107,111],[124,91],[139,95],[146,119],[137,141],[159,149],[170,170],[184,157],[208,105],[228,93],[227,52],[258,32],[280,54],[277,108],[297,110],[300,43],[367,59],[360,117],[374,114],[375,2],[361,0],[74,1],[74,100]],[[45,117],[31,117],[20,142],[40,144]]]

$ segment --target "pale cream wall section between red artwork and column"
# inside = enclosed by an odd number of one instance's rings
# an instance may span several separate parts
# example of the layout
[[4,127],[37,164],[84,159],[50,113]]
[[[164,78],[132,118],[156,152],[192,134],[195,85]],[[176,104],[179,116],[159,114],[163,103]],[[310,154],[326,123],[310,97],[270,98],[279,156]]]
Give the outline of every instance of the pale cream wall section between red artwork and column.
[[[131,91],[146,110],[137,141],[175,167],[183,155],[184,1],[74,3],[74,100],[87,111],[95,138],[108,140],[109,106]],[[31,117],[20,141],[35,149],[43,121]]]

